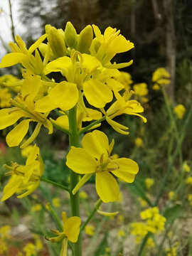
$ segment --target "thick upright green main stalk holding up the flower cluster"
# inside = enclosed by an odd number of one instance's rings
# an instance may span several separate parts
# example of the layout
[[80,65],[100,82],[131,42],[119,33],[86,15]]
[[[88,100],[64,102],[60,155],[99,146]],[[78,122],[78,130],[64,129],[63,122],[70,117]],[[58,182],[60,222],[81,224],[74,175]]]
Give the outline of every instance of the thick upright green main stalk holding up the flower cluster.
[[[76,106],[73,109],[69,110],[69,139],[70,139],[70,146],[79,146],[80,144],[80,135],[78,132],[78,125],[77,125],[77,108]],[[73,188],[78,184],[79,176],[75,174],[74,171],[70,170],[70,207],[71,213],[73,216],[80,217],[80,199],[79,199],[79,192],[73,195],[72,191]],[[78,241],[74,244],[74,256],[82,256],[82,234],[80,231]]]

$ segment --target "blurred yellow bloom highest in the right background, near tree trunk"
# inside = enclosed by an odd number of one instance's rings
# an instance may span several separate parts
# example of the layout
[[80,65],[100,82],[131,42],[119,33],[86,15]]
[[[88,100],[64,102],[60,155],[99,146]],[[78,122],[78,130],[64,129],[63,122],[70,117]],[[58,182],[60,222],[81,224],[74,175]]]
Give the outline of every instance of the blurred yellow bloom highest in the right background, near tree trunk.
[[165,68],[157,68],[152,75],[152,81],[157,85],[169,85],[170,74]]

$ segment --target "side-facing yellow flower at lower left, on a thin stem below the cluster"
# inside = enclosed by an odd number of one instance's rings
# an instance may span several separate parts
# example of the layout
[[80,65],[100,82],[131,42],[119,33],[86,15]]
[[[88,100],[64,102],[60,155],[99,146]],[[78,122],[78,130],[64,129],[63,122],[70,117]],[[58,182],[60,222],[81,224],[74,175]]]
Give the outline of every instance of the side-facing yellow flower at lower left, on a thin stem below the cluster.
[[38,146],[33,146],[25,166],[12,162],[11,166],[4,165],[4,168],[9,170],[6,175],[11,175],[11,178],[4,187],[4,196],[1,201],[11,197],[14,193],[20,194],[18,198],[33,193],[40,183],[44,169]]

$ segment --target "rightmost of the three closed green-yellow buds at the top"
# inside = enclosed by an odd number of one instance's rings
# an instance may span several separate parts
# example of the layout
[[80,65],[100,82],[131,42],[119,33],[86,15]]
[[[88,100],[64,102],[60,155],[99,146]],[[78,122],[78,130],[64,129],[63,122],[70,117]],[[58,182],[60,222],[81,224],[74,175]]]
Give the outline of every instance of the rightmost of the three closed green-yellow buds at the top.
[[89,53],[92,38],[92,26],[88,25],[80,32],[78,37],[78,50],[80,53]]

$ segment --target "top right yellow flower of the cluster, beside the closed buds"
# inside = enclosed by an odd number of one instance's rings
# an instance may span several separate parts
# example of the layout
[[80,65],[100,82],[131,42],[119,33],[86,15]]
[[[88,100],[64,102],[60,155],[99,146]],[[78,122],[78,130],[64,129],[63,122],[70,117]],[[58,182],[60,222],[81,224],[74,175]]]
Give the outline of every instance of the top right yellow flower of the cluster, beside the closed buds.
[[124,53],[134,48],[134,44],[126,40],[116,28],[108,27],[102,35],[100,29],[92,25],[96,38],[90,46],[90,53],[95,56],[105,68],[125,68],[132,64],[129,63],[112,64],[110,61],[117,53]]

